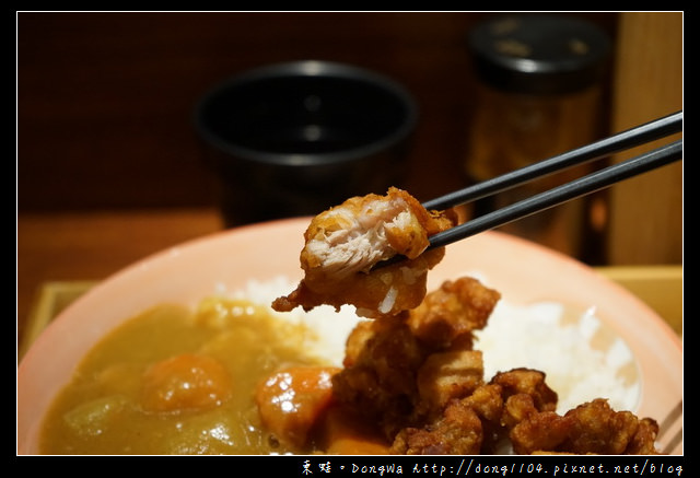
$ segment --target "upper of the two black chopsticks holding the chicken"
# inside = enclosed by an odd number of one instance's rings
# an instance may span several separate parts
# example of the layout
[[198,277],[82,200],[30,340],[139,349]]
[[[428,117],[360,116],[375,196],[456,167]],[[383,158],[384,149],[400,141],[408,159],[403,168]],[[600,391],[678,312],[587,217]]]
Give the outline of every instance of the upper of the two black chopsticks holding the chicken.
[[515,170],[502,176],[450,193],[423,202],[425,209],[447,209],[468,201],[491,196],[536,178],[545,177],[569,167],[584,164],[609,154],[664,138],[682,130],[682,110],[646,123],[609,138],[586,144],[563,154]]

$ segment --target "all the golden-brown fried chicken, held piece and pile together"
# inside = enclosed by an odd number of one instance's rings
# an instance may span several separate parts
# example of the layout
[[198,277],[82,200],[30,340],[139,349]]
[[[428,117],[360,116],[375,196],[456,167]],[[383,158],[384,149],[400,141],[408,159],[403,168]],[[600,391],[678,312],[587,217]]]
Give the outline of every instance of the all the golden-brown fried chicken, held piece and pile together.
[[[425,294],[428,271],[444,255],[425,250],[429,237],[456,223],[454,211],[427,211],[397,188],[312,220],[304,278],[272,307],[351,304],[372,318],[352,330],[332,376],[338,409],[366,420],[395,454],[655,454],[654,420],[604,399],[559,415],[541,371],[516,368],[486,382],[474,331],[486,327],[500,293],[465,277]],[[396,255],[406,258],[374,268]]]

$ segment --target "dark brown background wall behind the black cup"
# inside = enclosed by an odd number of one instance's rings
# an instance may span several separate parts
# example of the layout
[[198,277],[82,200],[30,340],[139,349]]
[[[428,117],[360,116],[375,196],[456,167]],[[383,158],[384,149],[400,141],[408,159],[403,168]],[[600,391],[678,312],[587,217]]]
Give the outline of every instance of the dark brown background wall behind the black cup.
[[[374,69],[416,96],[404,185],[464,184],[482,13],[20,13],[20,211],[197,207],[214,201],[191,124],[198,97],[245,69],[325,59]],[[616,15],[586,14],[611,33]]]

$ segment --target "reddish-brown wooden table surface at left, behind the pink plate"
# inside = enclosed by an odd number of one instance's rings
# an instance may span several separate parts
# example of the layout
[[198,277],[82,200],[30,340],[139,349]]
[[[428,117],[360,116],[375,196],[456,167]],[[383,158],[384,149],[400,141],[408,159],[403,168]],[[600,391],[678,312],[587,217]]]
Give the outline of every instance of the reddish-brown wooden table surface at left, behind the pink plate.
[[20,214],[18,340],[45,283],[103,280],[150,254],[221,229],[215,209]]

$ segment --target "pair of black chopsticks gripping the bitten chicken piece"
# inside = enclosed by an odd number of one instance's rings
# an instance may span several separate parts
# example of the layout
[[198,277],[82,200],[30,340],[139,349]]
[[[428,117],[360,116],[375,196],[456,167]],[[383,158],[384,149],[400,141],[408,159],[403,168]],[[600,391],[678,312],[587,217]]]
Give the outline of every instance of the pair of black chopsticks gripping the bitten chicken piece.
[[[442,210],[460,206],[680,131],[682,131],[682,110],[502,176],[450,193],[423,202],[423,207],[429,210]],[[682,139],[434,234],[429,238],[430,246],[428,248],[446,246],[681,159]],[[394,264],[401,257],[395,256],[375,267]]]

